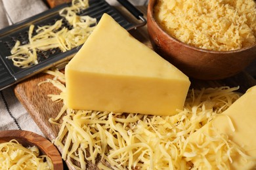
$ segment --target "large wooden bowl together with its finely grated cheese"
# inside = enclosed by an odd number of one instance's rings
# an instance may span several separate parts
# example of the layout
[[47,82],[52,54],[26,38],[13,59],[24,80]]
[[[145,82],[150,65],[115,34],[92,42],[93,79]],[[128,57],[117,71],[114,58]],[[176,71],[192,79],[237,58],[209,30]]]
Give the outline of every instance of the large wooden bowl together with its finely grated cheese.
[[[154,50],[192,78],[227,78],[256,59],[255,2],[216,3],[148,3],[148,34]],[[243,10],[232,10],[236,8]]]

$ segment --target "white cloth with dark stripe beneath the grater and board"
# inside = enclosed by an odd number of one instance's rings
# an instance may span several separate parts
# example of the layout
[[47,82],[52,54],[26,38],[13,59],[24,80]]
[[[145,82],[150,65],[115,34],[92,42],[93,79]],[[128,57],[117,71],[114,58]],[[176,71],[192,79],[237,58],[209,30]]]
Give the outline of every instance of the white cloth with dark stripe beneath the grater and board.
[[[106,0],[119,5],[116,0]],[[130,0],[133,5],[146,5],[148,0]],[[47,10],[42,0],[0,0],[0,29]],[[0,131],[22,129],[43,135],[30,114],[14,95],[14,86],[0,91]]]

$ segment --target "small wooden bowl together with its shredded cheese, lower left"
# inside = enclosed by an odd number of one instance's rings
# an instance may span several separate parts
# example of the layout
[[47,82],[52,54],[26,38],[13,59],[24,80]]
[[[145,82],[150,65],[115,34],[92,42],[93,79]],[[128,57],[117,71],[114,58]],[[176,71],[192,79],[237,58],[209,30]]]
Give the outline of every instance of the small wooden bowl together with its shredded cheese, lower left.
[[0,158],[3,169],[63,169],[58,149],[31,131],[0,131]]

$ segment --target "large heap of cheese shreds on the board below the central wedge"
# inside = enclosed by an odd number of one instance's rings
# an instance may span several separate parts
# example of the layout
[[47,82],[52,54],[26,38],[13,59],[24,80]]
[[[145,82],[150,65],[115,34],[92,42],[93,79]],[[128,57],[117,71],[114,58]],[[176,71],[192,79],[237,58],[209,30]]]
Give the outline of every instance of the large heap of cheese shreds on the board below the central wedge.
[[[246,156],[224,134],[196,146],[188,137],[228,109],[240,97],[236,90],[190,90],[184,109],[174,116],[73,110],[64,104],[61,113],[50,119],[60,125],[53,143],[76,169],[85,169],[88,162],[102,169],[228,169],[234,154],[255,158]],[[66,103],[64,96],[54,97]]]

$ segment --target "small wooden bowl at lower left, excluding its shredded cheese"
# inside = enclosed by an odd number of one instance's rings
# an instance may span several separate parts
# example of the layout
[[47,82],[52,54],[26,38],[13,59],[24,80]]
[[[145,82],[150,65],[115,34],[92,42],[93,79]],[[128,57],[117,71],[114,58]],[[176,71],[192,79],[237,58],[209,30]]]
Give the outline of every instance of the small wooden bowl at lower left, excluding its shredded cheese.
[[58,149],[41,135],[23,130],[0,131],[0,143],[9,142],[12,139],[16,139],[24,147],[37,146],[40,155],[44,154],[51,158],[54,169],[63,169],[63,162]]

